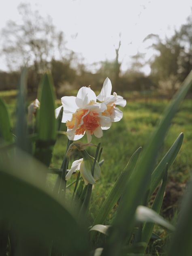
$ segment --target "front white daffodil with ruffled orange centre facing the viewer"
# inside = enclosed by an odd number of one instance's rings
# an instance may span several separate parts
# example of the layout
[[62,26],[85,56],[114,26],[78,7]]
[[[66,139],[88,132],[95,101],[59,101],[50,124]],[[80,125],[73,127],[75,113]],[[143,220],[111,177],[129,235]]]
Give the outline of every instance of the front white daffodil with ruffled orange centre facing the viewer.
[[[66,123],[68,139],[76,141],[86,133],[87,141],[90,143],[92,134],[97,138],[102,137],[101,127],[107,126],[111,119],[102,114],[107,110],[107,105],[96,102],[96,94],[90,87],[81,87],[77,97],[64,96],[61,101],[63,106],[62,123]],[[55,109],[56,117],[61,107]]]

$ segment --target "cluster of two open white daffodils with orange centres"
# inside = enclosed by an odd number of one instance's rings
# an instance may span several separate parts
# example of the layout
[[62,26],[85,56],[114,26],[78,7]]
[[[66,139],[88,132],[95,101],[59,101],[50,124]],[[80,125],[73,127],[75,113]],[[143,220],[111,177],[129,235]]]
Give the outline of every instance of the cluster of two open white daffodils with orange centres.
[[[81,139],[87,135],[90,143],[92,135],[102,137],[102,130],[111,127],[111,122],[118,122],[122,119],[123,113],[116,105],[125,107],[126,100],[115,92],[111,95],[112,85],[107,77],[98,96],[90,87],[81,87],[77,97],[64,96],[61,98],[63,106],[62,122],[66,123],[67,136],[71,141]],[[99,102],[97,102],[97,100]],[[58,117],[62,106],[55,110]]]

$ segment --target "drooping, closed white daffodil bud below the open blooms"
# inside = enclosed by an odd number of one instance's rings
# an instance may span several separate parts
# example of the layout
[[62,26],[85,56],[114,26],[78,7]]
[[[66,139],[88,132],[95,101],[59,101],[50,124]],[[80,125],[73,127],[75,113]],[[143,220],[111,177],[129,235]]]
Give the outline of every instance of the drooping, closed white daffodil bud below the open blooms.
[[94,158],[90,157],[89,159],[83,160],[83,158],[76,160],[73,162],[71,169],[68,170],[68,173],[66,175],[66,180],[70,179],[71,175],[73,174],[74,171],[80,171],[83,180],[85,182],[85,185],[88,183],[94,184],[97,179],[100,177],[100,166],[98,162],[95,164],[94,168],[94,176],[92,176],[92,165],[94,162]]

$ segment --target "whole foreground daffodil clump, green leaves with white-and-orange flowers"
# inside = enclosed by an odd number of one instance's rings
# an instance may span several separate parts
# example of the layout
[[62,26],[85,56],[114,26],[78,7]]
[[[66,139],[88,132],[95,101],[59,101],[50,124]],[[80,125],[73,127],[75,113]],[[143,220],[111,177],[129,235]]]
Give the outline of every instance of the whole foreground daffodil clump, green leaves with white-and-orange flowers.
[[[90,142],[93,135],[107,136],[103,130],[122,119],[123,112],[117,106],[125,107],[126,100],[115,92],[111,94],[107,78],[98,96],[84,86],[76,97],[62,97],[62,105],[55,109],[53,81],[46,73],[38,99],[27,107],[26,75],[24,69],[15,129],[6,103],[0,99],[0,255],[144,255],[150,239],[160,239],[153,233],[154,224],[173,232],[167,255],[192,255],[192,184],[176,227],[159,215],[167,173],[179,152],[183,133],[156,165],[171,120],[192,84],[192,72],[151,133],[141,156],[139,147],[122,168],[107,198],[100,200],[96,218],[90,211],[92,188],[94,185],[96,193],[100,193],[97,182],[105,162],[100,143]],[[61,122],[66,124],[65,131],[59,130]],[[84,144],[78,140],[85,133]],[[58,134],[66,135],[68,143],[61,166],[50,166]],[[90,147],[95,149],[93,156]],[[56,176],[54,186],[49,186],[50,173]],[[107,223],[116,209],[113,221]]]

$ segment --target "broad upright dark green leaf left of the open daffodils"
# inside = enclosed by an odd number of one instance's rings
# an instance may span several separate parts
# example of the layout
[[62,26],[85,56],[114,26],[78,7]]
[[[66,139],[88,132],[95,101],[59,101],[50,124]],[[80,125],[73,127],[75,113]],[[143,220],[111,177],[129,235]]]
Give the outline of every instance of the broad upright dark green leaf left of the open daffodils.
[[40,109],[37,112],[37,132],[35,157],[49,166],[56,140],[57,121],[55,119],[55,94],[52,77],[45,73],[40,83],[38,99]]

